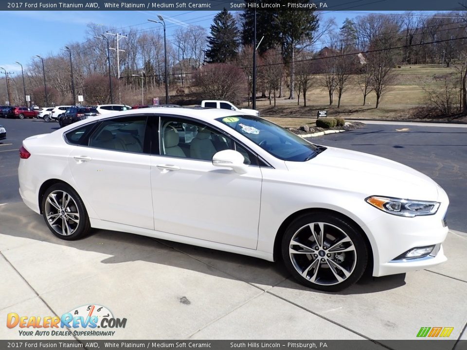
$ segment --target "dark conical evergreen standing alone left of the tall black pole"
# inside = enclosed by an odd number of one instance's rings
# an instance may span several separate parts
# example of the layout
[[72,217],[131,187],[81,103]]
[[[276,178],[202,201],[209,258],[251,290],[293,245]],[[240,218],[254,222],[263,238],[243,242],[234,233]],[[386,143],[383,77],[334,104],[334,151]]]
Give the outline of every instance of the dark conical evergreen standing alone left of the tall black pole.
[[231,61],[237,55],[240,42],[235,18],[224,8],[214,17],[213,22],[206,57],[211,63]]

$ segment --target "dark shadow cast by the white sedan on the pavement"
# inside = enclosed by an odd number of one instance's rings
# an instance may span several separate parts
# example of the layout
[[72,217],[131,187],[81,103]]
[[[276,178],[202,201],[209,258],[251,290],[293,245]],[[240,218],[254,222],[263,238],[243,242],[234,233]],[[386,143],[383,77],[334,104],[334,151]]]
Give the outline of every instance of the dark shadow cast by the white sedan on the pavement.
[[[36,249],[43,249],[43,253],[36,250],[36,256],[40,257],[54,254],[51,252],[65,254],[65,251],[68,252],[66,247],[69,247],[83,252],[98,253],[93,263],[93,268],[96,269],[99,269],[99,264],[127,262],[131,268],[132,262],[143,261],[154,264],[155,267],[166,265],[200,274],[241,280],[263,290],[278,285],[282,288],[282,284],[285,284],[287,288],[310,291],[309,288],[295,282],[280,261],[268,262],[234,253],[102,229],[92,230],[81,240],[64,241],[49,231],[41,215],[29,210],[20,202],[0,207],[0,222],[0,234],[12,237],[0,240],[1,251],[34,244]],[[38,241],[41,245],[31,240]],[[64,249],[57,249],[56,245],[63,246]],[[79,252],[73,255],[80,259]],[[83,257],[88,255],[83,254]],[[56,259],[59,263],[60,257],[57,256]],[[102,268],[106,269],[104,266]],[[404,279],[405,275],[381,278],[363,276],[358,283],[342,292],[314,292],[340,295],[371,294],[400,287],[405,284]]]

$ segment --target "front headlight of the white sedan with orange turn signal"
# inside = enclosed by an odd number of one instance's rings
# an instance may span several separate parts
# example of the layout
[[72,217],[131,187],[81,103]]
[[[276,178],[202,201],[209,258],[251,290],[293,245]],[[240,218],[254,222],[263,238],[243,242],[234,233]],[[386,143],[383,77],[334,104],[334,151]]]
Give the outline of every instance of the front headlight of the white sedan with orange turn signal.
[[379,210],[390,214],[414,217],[418,215],[433,215],[438,211],[440,203],[417,201],[410,199],[370,196],[365,201]]

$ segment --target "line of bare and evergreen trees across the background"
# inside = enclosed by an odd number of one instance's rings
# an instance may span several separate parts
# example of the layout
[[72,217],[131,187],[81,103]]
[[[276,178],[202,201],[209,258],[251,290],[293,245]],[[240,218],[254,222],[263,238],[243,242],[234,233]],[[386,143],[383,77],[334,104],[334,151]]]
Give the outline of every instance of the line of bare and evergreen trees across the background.
[[[324,19],[319,11],[256,11],[257,91],[252,91],[253,10],[216,14],[209,28],[179,26],[168,37],[167,56],[171,94],[184,95],[194,89],[204,98],[248,100],[261,94],[296,99],[306,105],[310,88],[327,92],[329,104],[341,105],[351,85],[361,90],[361,103],[376,95],[378,107],[394,83],[400,65],[439,64],[453,66],[460,79],[446,83],[446,91],[460,91],[461,110],[467,112],[467,15],[465,12],[438,14],[406,12],[403,15],[366,14],[347,18],[341,24]],[[107,43],[99,37],[117,28],[89,24],[85,40],[71,43],[74,83],[77,94],[91,104],[108,103]],[[108,35],[110,45],[115,40]],[[164,45],[160,30],[131,28],[120,41],[117,62],[110,57],[114,91],[122,102],[139,101],[141,84],[146,95],[156,96],[164,84]],[[54,104],[72,101],[68,53],[44,59],[48,100]],[[117,66],[118,65],[118,66]],[[120,70],[120,79],[117,72]],[[143,79],[134,77],[140,75]],[[37,104],[45,100],[42,64],[32,60],[25,67],[28,94]],[[6,101],[5,79],[0,98]],[[20,74],[9,80],[12,104],[24,105]],[[448,84],[449,83],[449,84]],[[452,84],[456,84],[455,88]],[[449,86],[448,86],[449,85]],[[445,92],[446,92],[445,91]],[[428,91],[427,93],[429,93]],[[431,91],[432,94],[432,91]],[[114,92],[114,101],[116,93]],[[435,100],[433,97],[433,100]],[[454,100],[452,96],[451,100]],[[130,101],[131,100],[131,101]]]

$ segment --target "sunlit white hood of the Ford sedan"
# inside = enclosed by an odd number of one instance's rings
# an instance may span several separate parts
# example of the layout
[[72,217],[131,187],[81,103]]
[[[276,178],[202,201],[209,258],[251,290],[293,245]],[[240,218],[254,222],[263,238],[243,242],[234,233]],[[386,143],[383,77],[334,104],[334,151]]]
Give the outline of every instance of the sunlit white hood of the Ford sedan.
[[[292,172],[308,174],[312,185],[416,200],[438,199],[438,185],[406,165],[366,153],[327,147],[306,162],[286,161]],[[305,172],[304,172],[305,171]]]

